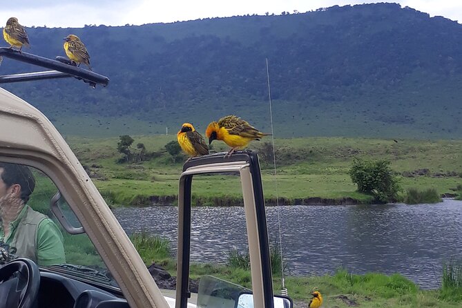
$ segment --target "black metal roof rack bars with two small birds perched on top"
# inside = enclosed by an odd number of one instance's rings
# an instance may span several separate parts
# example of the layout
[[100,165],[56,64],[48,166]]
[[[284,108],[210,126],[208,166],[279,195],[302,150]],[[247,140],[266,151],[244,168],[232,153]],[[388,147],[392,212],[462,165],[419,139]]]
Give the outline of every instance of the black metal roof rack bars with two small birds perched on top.
[[12,48],[1,47],[0,64],[2,57],[7,57],[17,61],[26,62],[28,64],[49,68],[50,70],[45,70],[42,72],[0,75],[0,84],[67,77],[75,77],[79,80],[83,80],[93,88],[95,88],[97,84],[107,86],[109,83],[108,77],[99,75],[84,68],[79,68],[65,57],[56,57],[55,60],[52,60],[45,57],[32,55],[23,51],[19,52],[18,50],[14,50]]

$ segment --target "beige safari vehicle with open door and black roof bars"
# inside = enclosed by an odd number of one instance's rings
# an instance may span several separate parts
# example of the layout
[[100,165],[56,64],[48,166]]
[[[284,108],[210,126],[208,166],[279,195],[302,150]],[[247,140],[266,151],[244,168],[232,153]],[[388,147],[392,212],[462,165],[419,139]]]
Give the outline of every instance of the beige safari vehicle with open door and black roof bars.
[[[0,48],[3,58],[48,68],[48,71],[0,76],[0,83],[76,77],[90,86],[106,86],[109,79],[63,59],[46,59]],[[1,72],[1,68],[0,68]],[[48,191],[42,202],[53,213],[65,246],[82,250],[86,242],[95,253],[68,253],[66,263],[37,266],[32,260],[6,253],[0,267],[0,308],[107,307],[292,307],[284,296],[274,296],[269,241],[258,157],[241,151],[197,157],[184,164],[179,182],[177,288],[161,291],[130,238],[57,129],[37,108],[0,88],[0,162],[29,166]],[[249,240],[252,290],[211,276],[200,279],[199,291],[189,291],[191,240],[191,183],[204,173],[238,173],[242,183]],[[38,185],[37,184],[37,185]],[[37,191],[37,189],[36,189]],[[34,193],[32,193],[34,198]],[[31,201],[32,200],[31,198]],[[48,199],[48,197],[47,197]],[[243,230],[242,232],[244,232]],[[69,248],[69,249],[68,249]]]

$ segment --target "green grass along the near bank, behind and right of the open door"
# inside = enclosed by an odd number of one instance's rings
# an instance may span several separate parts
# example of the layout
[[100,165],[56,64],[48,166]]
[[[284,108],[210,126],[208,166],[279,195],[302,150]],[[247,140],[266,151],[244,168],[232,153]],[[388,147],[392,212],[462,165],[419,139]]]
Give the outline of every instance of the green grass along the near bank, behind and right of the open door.
[[[164,258],[169,254],[168,244],[157,237],[137,234],[137,250],[147,266],[152,262],[161,264],[172,276],[176,276],[175,260]],[[164,243],[155,244],[152,243]],[[135,243],[135,242],[134,242]],[[276,245],[277,246],[277,245]],[[155,248],[154,248],[155,247]],[[277,254],[277,249],[271,249]],[[152,258],[160,256],[160,259]],[[243,287],[251,288],[248,254],[230,251],[228,264],[191,264],[191,278],[212,275],[228,280]],[[272,264],[278,263],[271,258]],[[274,262],[273,262],[274,261]],[[280,260],[279,260],[280,261]],[[280,264],[280,263],[279,263]],[[273,270],[273,289],[275,293],[282,288],[278,269]],[[324,307],[460,307],[462,302],[462,267],[455,262],[443,264],[442,287],[436,290],[421,290],[414,282],[396,273],[391,276],[382,273],[355,275],[347,269],[338,269],[336,273],[323,276],[288,276],[285,286],[289,296],[296,302],[295,307],[309,302],[313,289],[323,293]],[[355,304],[356,303],[356,304]]]

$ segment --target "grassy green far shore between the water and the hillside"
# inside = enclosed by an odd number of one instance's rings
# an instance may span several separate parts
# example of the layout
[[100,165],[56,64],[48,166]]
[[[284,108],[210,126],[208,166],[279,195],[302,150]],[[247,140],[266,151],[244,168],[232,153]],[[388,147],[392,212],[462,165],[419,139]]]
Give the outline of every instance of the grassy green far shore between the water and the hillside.
[[[132,136],[151,160],[117,164],[118,138],[68,137],[71,148],[88,169],[98,189],[112,206],[175,204],[178,179],[185,157],[173,160],[164,146],[175,135]],[[434,189],[439,195],[457,194],[462,184],[462,141],[389,140],[364,138],[276,139],[277,180],[280,204],[370,203],[372,195],[358,193],[349,175],[355,158],[388,160],[403,189],[403,200],[411,188]],[[262,166],[267,204],[276,204],[271,160],[264,155],[269,144],[253,142]],[[224,144],[215,151],[226,151]],[[270,157],[271,158],[271,157]],[[239,205],[242,202],[238,177],[203,175],[193,181],[193,201],[198,205]]]

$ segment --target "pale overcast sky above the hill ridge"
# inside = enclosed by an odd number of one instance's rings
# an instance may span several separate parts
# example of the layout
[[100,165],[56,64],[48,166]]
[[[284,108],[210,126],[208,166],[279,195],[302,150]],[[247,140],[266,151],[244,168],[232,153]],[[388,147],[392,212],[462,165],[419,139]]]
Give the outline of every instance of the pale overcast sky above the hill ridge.
[[[85,25],[124,26],[169,23],[205,17],[230,17],[265,12],[307,12],[329,6],[384,1],[347,0],[15,0],[1,6],[0,26],[17,17],[23,26],[83,27]],[[462,21],[462,0],[393,1],[427,12]]]

